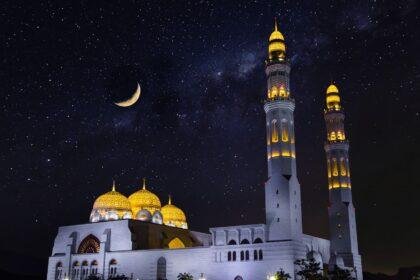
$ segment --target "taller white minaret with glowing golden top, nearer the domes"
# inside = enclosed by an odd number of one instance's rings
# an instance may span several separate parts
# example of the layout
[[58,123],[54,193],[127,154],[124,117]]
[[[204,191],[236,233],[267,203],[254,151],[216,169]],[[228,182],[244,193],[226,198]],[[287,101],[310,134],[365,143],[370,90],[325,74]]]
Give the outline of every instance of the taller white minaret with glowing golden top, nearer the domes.
[[264,104],[268,160],[265,186],[267,240],[294,239],[302,234],[293,122],[295,102],[290,97],[290,64],[277,22],[268,43],[265,73],[268,87]]

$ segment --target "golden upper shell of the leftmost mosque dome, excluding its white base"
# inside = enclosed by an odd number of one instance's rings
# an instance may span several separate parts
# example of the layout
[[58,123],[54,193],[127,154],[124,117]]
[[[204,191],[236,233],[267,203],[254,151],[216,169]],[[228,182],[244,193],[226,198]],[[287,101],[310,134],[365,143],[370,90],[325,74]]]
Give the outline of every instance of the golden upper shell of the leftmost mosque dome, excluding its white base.
[[115,190],[115,182],[112,185],[112,190],[99,196],[93,204],[93,210],[98,213],[104,211],[115,211],[118,218],[123,218],[124,215],[131,215],[131,205],[127,197]]

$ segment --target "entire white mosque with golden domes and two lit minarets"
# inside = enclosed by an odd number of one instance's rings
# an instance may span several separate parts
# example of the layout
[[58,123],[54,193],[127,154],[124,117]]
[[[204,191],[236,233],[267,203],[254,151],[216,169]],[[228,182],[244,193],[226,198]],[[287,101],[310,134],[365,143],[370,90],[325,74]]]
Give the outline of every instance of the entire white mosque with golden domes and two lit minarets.
[[89,223],[58,229],[48,261],[48,280],[84,280],[91,275],[113,279],[175,280],[179,273],[194,279],[270,279],[283,269],[296,278],[294,262],[314,258],[363,279],[357,244],[350,181],[349,141],[338,88],[326,90],[327,176],[330,240],[302,231],[301,190],[296,172],[290,63],[277,23],[268,43],[267,130],[268,176],[265,223],[189,229],[187,216],[172,203],[162,206],[146,182],[128,198],[115,188],[93,204]]

